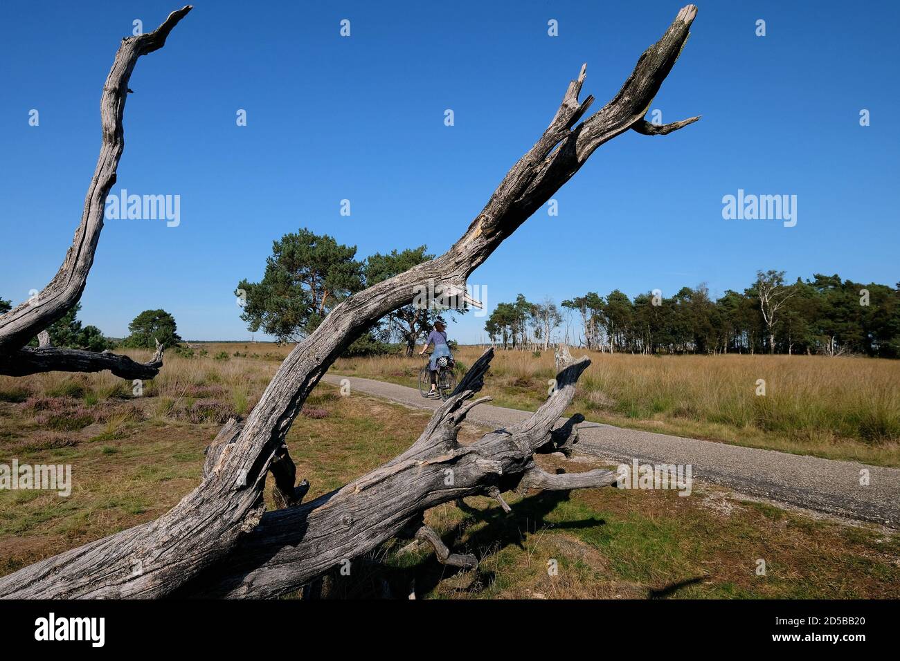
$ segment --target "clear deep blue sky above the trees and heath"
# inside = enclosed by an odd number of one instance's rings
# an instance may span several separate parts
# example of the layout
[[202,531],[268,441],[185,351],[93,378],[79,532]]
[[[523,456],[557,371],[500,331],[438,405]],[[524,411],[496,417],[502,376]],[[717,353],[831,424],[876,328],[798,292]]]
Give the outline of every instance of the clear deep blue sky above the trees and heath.
[[[185,338],[247,339],[232,291],[262,276],[285,232],[329,233],[359,256],[444,251],[545,129],[581,63],[582,94],[599,108],[681,4],[197,2],[164,49],[139,59],[113,188],[180,195],[181,224],[107,221],[80,317],[121,336],[139,311],[165,308]],[[148,31],[177,6],[5,4],[0,297],[27,299],[57,271],[119,40],[134,19]],[[539,211],[473,273],[490,308],[518,292],[560,302],[707,282],[719,294],[769,268],[900,280],[900,4],[698,6],[653,109],[666,122],[703,119],[601,147],[556,195],[558,217]],[[338,34],[345,18],[349,38]],[[247,127],[236,126],[239,108]],[[796,194],[797,226],[723,219],[722,197],[738,189]],[[478,341],[483,322],[467,315],[450,335]]]

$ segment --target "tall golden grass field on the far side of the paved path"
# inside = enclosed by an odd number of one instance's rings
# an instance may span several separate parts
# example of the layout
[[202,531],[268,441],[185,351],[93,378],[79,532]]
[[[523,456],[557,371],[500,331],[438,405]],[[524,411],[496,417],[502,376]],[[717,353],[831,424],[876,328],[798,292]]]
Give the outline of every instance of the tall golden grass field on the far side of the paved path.
[[[471,365],[482,352],[462,347]],[[587,353],[571,411],[589,420],[811,454],[900,466],[900,362],[824,356],[640,356]],[[340,359],[338,374],[417,387],[421,359]],[[483,394],[535,410],[554,374],[553,352],[499,351]],[[765,395],[757,392],[765,381]]]

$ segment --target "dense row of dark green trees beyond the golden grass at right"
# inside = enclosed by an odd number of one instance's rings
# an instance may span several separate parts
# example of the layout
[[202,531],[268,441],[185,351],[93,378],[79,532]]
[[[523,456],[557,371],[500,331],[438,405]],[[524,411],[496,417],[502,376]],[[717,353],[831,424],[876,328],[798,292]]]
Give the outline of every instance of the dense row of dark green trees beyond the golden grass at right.
[[758,272],[743,292],[727,290],[715,300],[702,284],[668,298],[659,290],[635,299],[589,291],[561,307],[520,294],[500,303],[484,329],[504,348],[546,348],[561,335],[564,317],[570,343],[609,352],[900,357],[900,283],[862,284],[837,274],[788,283],[784,272]]

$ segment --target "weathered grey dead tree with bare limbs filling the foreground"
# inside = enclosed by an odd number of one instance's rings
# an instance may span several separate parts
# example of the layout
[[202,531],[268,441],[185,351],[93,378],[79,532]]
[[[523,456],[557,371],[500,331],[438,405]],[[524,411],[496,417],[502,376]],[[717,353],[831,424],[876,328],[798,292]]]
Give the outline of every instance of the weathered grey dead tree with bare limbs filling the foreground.
[[[140,56],[162,46],[166,35],[190,11],[172,13],[157,31],[122,41],[110,74],[121,95],[110,94],[104,116],[116,117],[115,135],[103,152],[90,210],[100,205],[94,224],[83,219],[79,240],[64,268],[51,282],[53,293],[42,311],[23,306],[0,319],[0,351],[16,352],[28,337],[65,311],[67,296],[76,299],[84,287],[102,225],[102,202],[114,181],[121,154],[121,108],[128,74]],[[549,475],[536,468],[533,455],[546,448],[571,448],[573,418],[563,431],[553,431],[572,399],[575,381],[587,359],[563,370],[557,390],[526,423],[487,434],[472,446],[455,441],[456,426],[484,399],[467,401],[481,387],[491,360],[489,351],[431,419],[409,451],[355,482],[297,505],[302,487],[293,482],[293,461],[284,442],[304,400],[349,344],[392,310],[409,305],[422,287],[465,290],[468,275],[482,264],[535,210],[543,205],[602,144],[626,130],[665,135],[698,117],[654,126],[644,115],[675,64],[697,14],[693,5],[680,10],[662,38],[638,59],[621,90],[598,112],[582,121],[593,96],[579,100],[586,67],[573,80],[553,120],[535,145],[512,166],[491,199],[464,235],[444,255],[419,264],[389,280],[354,294],[334,308],[321,325],[288,354],[246,422],[227,424],[207,454],[200,486],[156,521],[121,531],[47,558],[0,578],[6,597],[161,597],[170,594],[274,596],[302,585],[342,560],[398,534],[419,521],[429,507],[471,494],[498,498],[510,488],[596,487],[610,484],[607,471]],[[117,73],[118,72],[118,73]],[[109,82],[107,84],[109,86]],[[104,88],[104,100],[107,98]],[[105,103],[105,101],[104,101]],[[104,125],[105,126],[105,125]],[[115,147],[118,146],[118,147]],[[109,154],[104,157],[107,149]],[[111,173],[112,181],[108,178]],[[85,209],[85,218],[88,210]],[[93,218],[93,217],[92,217]],[[84,252],[83,252],[84,251]],[[73,282],[69,284],[69,282]],[[74,292],[74,293],[72,293]],[[74,302],[72,303],[74,305]],[[60,311],[62,310],[62,311]],[[9,318],[7,318],[9,317]],[[445,482],[452,469],[453,484]],[[287,505],[264,512],[263,488],[268,471]],[[428,531],[420,538],[433,539]],[[441,549],[438,554],[444,556]],[[449,552],[447,552],[449,556]]]

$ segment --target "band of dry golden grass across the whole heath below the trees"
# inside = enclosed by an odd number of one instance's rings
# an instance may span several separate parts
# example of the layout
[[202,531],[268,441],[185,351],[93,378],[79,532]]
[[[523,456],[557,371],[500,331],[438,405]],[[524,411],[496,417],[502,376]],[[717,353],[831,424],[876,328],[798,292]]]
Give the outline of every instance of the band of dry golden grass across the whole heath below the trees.
[[[246,415],[291,350],[269,343],[198,344],[192,357],[169,351],[144,384],[157,419]],[[482,352],[461,347],[464,371]],[[149,352],[130,350],[137,360]],[[574,350],[575,355],[581,355]],[[900,362],[822,356],[668,356],[588,352],[571,412],[647,431],[769,448],[829,459],[900,466]],[[416,387],[422,359],[340,359],[341,374]],[[554,377],[552,352],[499,351],[484,394],[499,406],[534,410]],[[766,395],[756,395],[765,380]],[[85,404],[130,398],[130,385],[109,372],[0,377],[0,401],[76,395]],[[218,402],[215,410],[204,406]],[[0,426],[2,433],[2,426]]]

